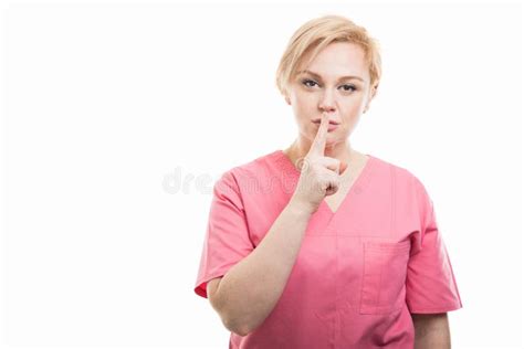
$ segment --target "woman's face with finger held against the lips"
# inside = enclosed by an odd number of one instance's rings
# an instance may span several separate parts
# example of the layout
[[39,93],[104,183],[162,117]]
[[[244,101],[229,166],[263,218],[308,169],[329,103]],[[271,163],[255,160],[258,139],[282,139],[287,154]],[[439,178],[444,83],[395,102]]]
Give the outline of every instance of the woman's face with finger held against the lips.
[[[307,56],[304,59],[305,62]],[[319,125],[315,120],[327,112],[333,125],[329,125],[326,145],[345,144],[376,93],[376,88],[369,92],[364,50],[348,42],[331,43],[310,66],[297,71],[285,99],[293,107],[301,140],[313,141]]]

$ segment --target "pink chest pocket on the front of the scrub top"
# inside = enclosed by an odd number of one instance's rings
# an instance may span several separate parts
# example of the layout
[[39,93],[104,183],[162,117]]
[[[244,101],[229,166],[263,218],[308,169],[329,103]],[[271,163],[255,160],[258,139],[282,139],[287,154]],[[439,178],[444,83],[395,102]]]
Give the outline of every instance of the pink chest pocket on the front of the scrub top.
[[410,245],[410,241],[364,242],[360,314],[389,314],[404,306]]

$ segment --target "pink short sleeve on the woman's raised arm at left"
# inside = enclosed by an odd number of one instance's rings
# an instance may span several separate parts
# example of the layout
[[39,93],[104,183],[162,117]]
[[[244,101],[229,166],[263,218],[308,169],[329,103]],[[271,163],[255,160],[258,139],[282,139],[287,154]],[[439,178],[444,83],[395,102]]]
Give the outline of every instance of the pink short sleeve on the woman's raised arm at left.
[[207,283],[223,276],[253,250],[239,184],[229,170],[213,186],[195,293],[208,298]]

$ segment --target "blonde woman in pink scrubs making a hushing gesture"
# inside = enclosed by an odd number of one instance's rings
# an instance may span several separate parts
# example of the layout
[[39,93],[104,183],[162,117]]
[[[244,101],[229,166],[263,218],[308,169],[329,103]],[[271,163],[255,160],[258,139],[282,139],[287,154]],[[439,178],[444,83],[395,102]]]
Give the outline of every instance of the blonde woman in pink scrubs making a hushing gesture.
[[380,78],[340,15],[303,24],[276,84],[298,136],[213,188],[195,292],[230,348],[449,348],[462,307],[432,201],[407,169],[350,147]]

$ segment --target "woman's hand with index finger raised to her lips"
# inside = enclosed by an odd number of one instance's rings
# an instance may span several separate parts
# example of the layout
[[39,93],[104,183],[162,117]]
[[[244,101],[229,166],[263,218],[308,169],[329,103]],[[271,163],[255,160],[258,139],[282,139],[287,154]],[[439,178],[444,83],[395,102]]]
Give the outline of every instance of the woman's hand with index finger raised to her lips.
[[339,178],[347,168],[344,161],[326,157],[327,113],[322,114],[321,125],[310,151],[301,159],[301,177],[292,200],[315,212],[326,195],[338,191]]

